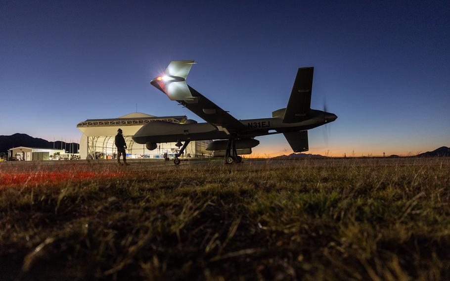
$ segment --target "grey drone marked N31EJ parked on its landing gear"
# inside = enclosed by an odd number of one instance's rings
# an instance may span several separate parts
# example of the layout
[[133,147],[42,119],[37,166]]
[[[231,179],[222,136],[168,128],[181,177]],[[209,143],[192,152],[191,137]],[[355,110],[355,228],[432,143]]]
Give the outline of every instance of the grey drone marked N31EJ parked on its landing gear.
[[[153,79],[151,85],[166,94],[171,100],[198,115],[207,123],[187,120],[182,124],[154,121],[145,124],[136,132],[133,140],[144,144],[149,150],[161,142],[177,142],[181,146],[174,163],[180,164],[180,155],[190,141],[216,140],[207,150],[225,150],[225,164],[242,161],[238,151],[245,151],[259,144],[255,137],[283,133],[294,152],[308,151],[308,131],[333,122],[337,116],[311,109],[314,67],[302,67],[297,71],[294,87],[286,108],[272,112],[272,118],[237,120],[211,100],[186,84],[193,60],[174,60],[164,73]],[[184,144],[181,144],[181,141]],[[247,151],[250,149],[247,149]]]

